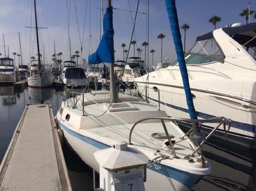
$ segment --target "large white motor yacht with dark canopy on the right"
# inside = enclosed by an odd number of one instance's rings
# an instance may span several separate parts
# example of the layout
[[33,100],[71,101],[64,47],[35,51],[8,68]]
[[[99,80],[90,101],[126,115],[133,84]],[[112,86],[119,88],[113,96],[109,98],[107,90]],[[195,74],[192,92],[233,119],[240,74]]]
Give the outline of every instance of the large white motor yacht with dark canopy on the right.
[[[256,23],[235,26],[197,37],[185,60],[197,116],[231,118],[232,128],[227,138],[224,128],[215,135],[253,147],[256,145]],[[143,98],[155,104],[160,99],[161,109],[168,116],[189,117],[178,61],[136,78],[134,83]],[[209,132],[213,126],[202,125],[202,129]]]

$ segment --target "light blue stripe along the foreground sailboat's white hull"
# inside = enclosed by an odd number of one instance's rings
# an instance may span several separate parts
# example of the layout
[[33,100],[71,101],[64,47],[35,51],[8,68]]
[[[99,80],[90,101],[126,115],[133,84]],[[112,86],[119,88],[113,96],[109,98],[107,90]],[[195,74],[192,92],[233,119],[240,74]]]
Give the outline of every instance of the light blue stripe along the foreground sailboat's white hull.
[[[78,138],[79,140],[84,141],[98,149],[108,149],[111,147],[111,146],[101,143],[99,141],[93,140],[89,137],[82,136],[79,133],[68,129],[68,127],[62,123],[60,123],[60,127],[63,128],[65,131],[67,131],[67,133],[69,133],[70,135],[72,135],[72,136]],[[162,174],[164,176],[167,176],[169,178],[172,178],[172,179],[180,182],[181,184],[186,186],[189,190],[191,190],[192,187],[195,185],[195,183],[197,183],[202,178],[201,175],[196,175],[196,174],[191,174],[191,173],[188,173],[185,171],[180,171],[178,169],[175,169],[175,168],[172,168],[172,167],[166,166],[164,164],[160,164],[160,163],[155,163],[153,165],[148,166],[147,168],[149,170],[155,171],[159,174]]]

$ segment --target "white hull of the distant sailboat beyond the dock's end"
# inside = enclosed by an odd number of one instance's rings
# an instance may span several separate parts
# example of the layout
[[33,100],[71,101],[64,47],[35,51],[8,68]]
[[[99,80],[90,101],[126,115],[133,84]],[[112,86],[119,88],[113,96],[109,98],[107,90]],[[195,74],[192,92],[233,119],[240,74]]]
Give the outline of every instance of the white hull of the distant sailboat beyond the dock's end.
[[27,78],[28,86],[32,88],[46,88],[53,85],[53,77],[47,74],[33,75]]

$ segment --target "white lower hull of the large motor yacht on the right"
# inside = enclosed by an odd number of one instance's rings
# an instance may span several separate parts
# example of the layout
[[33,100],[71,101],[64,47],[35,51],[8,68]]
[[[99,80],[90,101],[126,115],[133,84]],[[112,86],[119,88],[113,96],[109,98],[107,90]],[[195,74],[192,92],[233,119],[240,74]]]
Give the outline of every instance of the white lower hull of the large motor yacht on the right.
[[[174,85],[171,83],[171,81],[166,84],[156,83],[159,80],[154,78],[153,82],[151,81],[150,77],[149,82],[145,83],[142,78],[138,78],[134,82],[136,83],[138,92],[144,99],[158,105],[159,101],[158,92],[156,91],[157,88],[160,90],[160,108],[166,111],[168,116],[189,118],[189,111],[183,87]],[[145,88],[146,85],[148,88]],[[231,128],[227,133],[227,136],[224,128],[222,127],[219,128],[216,133],[214,133],[215,137],[234,142],[245,147],[255,146],[256,112],[239,109],[229,102],[225,102],[227,100],[230,102],[241,102],[232,95],[224,95],[220,92],[210,92],[195,88],[191,88],[191,92],[195,96],[193,101],[197,111],[197,116],[200,119],[209,119],[216,116],[224,116],[232,119]],[[147,96],[145,97],[146,94]],[[182,125],[187,128],[191,127],[191,124],[189,123],[182,123]],[[201,130],[209,133],[213,128],[214,125],[208,124],[207,126],[202,125]]]

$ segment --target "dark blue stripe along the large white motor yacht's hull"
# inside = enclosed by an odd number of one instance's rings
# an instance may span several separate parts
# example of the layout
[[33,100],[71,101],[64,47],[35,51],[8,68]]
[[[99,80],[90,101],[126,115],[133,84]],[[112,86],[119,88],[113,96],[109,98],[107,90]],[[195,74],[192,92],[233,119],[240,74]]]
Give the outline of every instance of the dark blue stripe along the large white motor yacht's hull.
[[[141,95],[145,96],[143,94],[141,94]],[[148,97],[148,99],[158,102],[158,100],[155,100],[155,99],[150,98],[150,97]],[[168,107],[173,108],[175,110],[179,110],[179,111],[183,111],[185,113],[189,113],[188,109],[181,108],[181,107],[169,104],[169,103],[165,103],[163,101],[160,101],[160,103],[162,105],[167,105]],[[197,111],[196,113],[197,113],[198,117],[203,118],[203,119],[209,119],[211,117],[216,117],[216,116],[209,115],[209,114],[206,114],[206,113],[202,113],[202,112],[199,112],[199,111]],[[232,121],[231,125],[232,125],[232,127],[236,128],[236,129],[240,129],[240,130],[244,130],[244,131],[248,131],[248,132],[253,132],[253,133],[255,132],[255,125],[251,125],[251,124],[247,124],[247,123],[241,123],[241,122],[237,122],[237,121]]]

